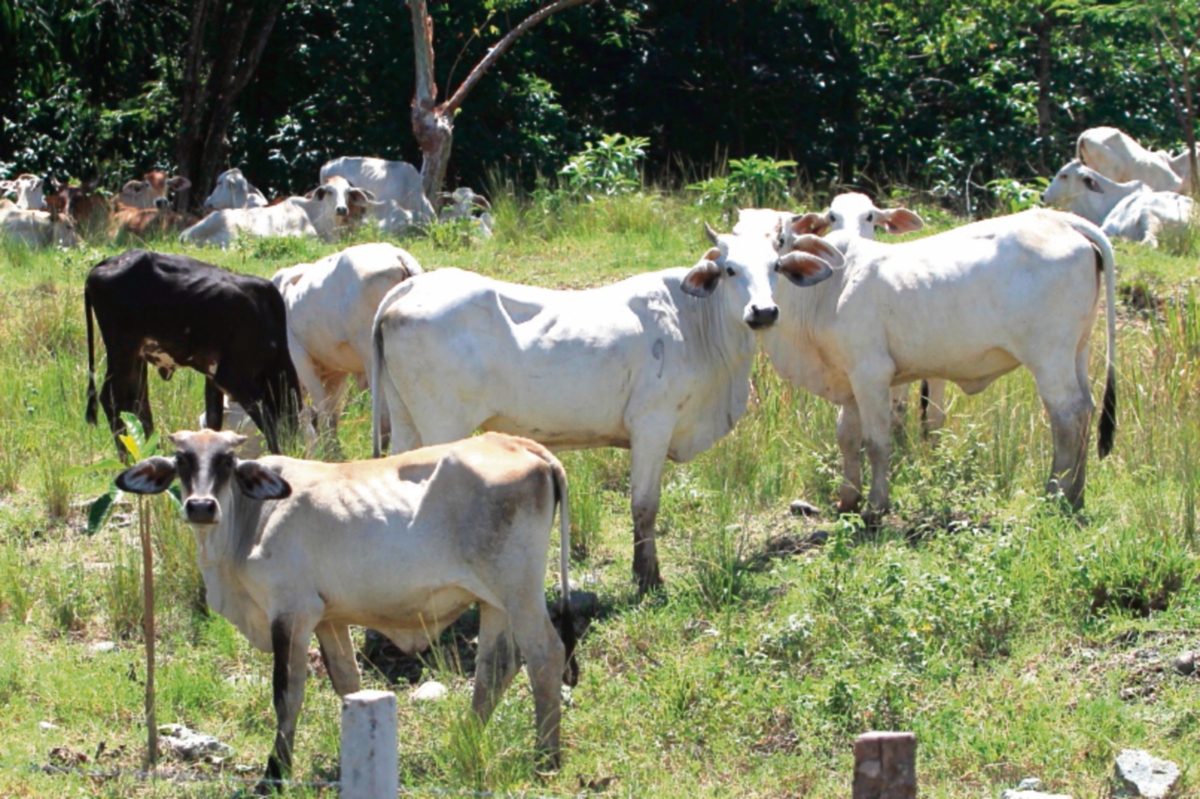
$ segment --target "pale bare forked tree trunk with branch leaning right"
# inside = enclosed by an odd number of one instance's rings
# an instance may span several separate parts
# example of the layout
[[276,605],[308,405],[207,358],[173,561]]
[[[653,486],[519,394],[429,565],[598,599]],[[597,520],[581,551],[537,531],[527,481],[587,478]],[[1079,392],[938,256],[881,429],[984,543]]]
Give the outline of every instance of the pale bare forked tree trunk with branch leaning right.
[[438,84],[433,79],[433,20],[426,0],[407,0],[413,17],[413,53],[416,61],[416,89],[413,92],[413,136],[421,148],[421,187],[425,196],[437,208],[442,185],[445,182],[446,167],[450,164],[450,149],[454,145],[454,116],[462,107],[467,95],[492,68],[512,42],[542,19],[595,0],[556,0],[526,17],[520,25],[500,38],[479,64],[463,79],[455,92],[443,103],[438,103]]

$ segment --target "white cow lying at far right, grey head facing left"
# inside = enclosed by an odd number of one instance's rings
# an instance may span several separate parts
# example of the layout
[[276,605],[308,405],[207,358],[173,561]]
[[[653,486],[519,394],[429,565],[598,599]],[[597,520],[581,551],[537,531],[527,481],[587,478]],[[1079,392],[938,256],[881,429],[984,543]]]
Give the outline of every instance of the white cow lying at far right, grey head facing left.
[[1105,235],[1158,246],[1165,227],[1192,221],[1194,203],[1176,192],[1156,192],[1139,180],[1118,184],[1076,158],[1058,170],[1042,202],[1100,226]]

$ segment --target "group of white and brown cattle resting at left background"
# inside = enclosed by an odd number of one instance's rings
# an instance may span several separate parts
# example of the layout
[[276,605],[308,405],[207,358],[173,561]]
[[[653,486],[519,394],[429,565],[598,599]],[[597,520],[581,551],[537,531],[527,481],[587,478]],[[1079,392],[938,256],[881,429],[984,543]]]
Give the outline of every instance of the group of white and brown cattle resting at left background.
[[400,235],[409,226],[470,220],[479,235],[492,234],[491,206],[467,187],[443,194],[440,211],[425,197],[420,173],[403,161],[341,157],[320,168],[320,181],[304,196],[268,202],[240,169],[217,176],[204,200],[204,217],[181,214],[172,194],[191,188],[182,176],[151,170],[106,198],[95,184],[60,184],[23,174],[0,181],[0,238],[30,247],[74,247],[82,239],[118,242],[179,234],[182,242],[228,247],[235,239],[307,236],[325,241],[368,227]]

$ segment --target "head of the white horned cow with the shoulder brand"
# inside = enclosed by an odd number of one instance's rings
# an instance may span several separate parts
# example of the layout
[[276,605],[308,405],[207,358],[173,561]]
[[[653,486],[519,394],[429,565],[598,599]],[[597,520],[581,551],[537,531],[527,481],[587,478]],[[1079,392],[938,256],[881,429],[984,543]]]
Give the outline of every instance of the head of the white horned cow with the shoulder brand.
[[[781,230],[776,226],[774,233]],[[780,275],[797,286],[814,286],[841,266],[842,257],[817,236],[798,236],[793,252],[780,256],[775,236],[720,235],[704,224],[713,247],[691,268],[680,283],[684,293],[708,298],[718,287],[725,301],[740,312],[742,320],[754,330],[775,324],[775,283]]]

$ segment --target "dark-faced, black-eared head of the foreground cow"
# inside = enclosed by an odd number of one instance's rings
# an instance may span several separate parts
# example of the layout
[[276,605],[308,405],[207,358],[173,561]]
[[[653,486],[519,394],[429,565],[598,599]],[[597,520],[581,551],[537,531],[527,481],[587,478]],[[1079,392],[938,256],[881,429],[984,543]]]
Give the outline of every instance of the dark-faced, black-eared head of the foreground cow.
[[222,503],[229,492],[251,499],[286,499],[292,486],[258,461],[240,461],[235,453],[245,435],[229,431],[181,431],[170,437],[175,455],[142,461],[116,475],[116,487],[134,494],[160,494],[179,477],[184,521],[197,527],[221,523]]

